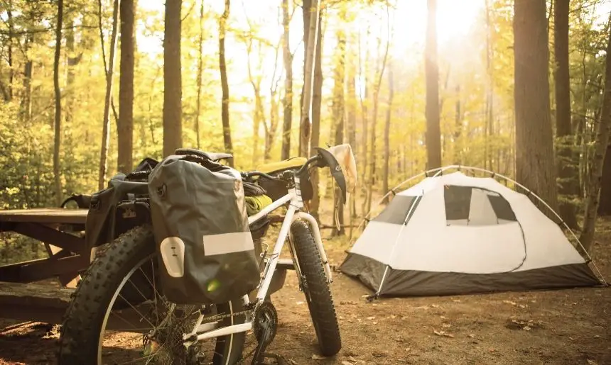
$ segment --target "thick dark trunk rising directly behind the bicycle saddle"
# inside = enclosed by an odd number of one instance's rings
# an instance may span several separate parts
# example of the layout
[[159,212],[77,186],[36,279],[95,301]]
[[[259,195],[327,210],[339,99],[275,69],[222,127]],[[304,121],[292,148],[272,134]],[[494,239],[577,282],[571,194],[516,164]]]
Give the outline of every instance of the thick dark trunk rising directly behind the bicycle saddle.
[[[229,0],[227,0],[229,1]],[[166,0],[163,37],[163,156],[183,145],[183,82],[180,69],[180,8],[182,0]]]

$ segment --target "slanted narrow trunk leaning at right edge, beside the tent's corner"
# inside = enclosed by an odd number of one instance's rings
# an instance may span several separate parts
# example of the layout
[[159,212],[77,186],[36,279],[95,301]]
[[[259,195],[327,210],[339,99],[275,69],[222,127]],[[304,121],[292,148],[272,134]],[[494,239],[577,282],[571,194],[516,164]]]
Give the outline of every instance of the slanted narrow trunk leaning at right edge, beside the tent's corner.
[[[609,16],[611,23],[611,14]],[[607,41],[607,55],[611,55],[611,30]],[[585,215],[583,217],[583,230],[579,237],[586,251],[590,249],[594,238],[596,225],[596,210],[598,209],[598,197],[600,193],[600,181],[602,178],[602,165],[605,153],[609,145],[609,133],[611,131],[611,57],[607,56],[607,68],[605,70],[605,91],[602,96],[602,113],[600,113],[600,124],[596,135],[594,158],[592,169],[588,174],[588,196],[585,199]]]

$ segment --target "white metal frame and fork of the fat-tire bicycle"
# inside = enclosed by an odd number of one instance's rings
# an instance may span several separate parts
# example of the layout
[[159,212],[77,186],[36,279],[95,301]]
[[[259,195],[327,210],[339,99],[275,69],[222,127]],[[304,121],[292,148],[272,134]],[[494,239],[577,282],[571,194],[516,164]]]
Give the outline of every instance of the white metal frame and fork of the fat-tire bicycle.
[[[295,179],[296,186],[299,186],[298,177],[295,177],[294,179]],[[259,281],[259,286],[258,286],[259,290],[256,293],[256,298],[254,301],[255,303],[254,308],[256,308],[261,303],[263,303],[263,301],[265,300],[267,296],[267,291],[269,290],[271,279],[274,276],[274,271],[276,271],[276,264],[278,264],[278,260],[280,258],[280,252],[282,251],[282,248],[284,247],[287,237],[289,238],[289,242],[291,242],[291,254],[293,256],[293,265],[295,266],[298,279],[301,283],[301,271],[298,267],[298,262],[295,258],[293,240],[291,240],[291,237],[290,237],[291,225],[293,224],[295,220],[302,219],[310,223],[310,226],[312,228],[313,235],[314,235],[314,240],[316,242],[316,245],[318,246],[318,253],[320,254],[320,259],[322,259],[323,261],[325,273],[327,274],[327,281],[329,283],[332,281],[331,280],[331,269],[329,266],[329,262],[327,260],[327,254],[325,254],[325,249],[323,247],[323,240],[320,238],[320,229],[318,228],[318,223],[316,222],[316,220],[314,219],[312,215],[301,211],[301,209],[303,208],[301,190],[296,189],[296,188],[289,189],[288,193],[285,196],[283,196],[282,198],[279,198],[277,201],[274,201],[274,203],[271,203],[269,206],[266,206],[259,213],[256,213],[256,215],[252,215],[251,217],[249,217],[248,218],[249,225],[252,225],[252,223],[255,223],[257,220],[260,220],[261,218],[264,218],[266,215],[273,212],[274,210],[281,208],[282,206],[286,205],[286,203],[288,203],[286,215],[284,216],[284,220],[280,228],[280,233],[278,235],[278,239],[276,240],[276,245],[274,245],[274,250],[269,255],[269,259],[267,260],[265,269],[263,271],[263,276],[261,277],[261,281]],[[249,305],[251,303],[248,295],[244,295],[242,297],[242,301],[244,302],[244,305]],[[233,308],[231,308],[231,310],[233,312]],[[252,330],[253,321],[254,321],[254,318],[247,318],[246,322],[240,323],[238,325],[229,325],[227,327],[216,328],[217,322],[210,322],[210,323],[205,323],[204,325],[202,325],[202,322],[204,319],[205,319],[205,316],[203,314],[200,314],[198,321],[195,322],[195,327],[193,327],[193,331],[191,331],[188,334],[183,335],[183,341],[184,341],[185,346],[188,347],[191,344],[202,341],[204,339],[210,339],[213,337],[219,337],[219,336],[225,336],[225,335],[232,335],[232,334],[239,333],[239,332],[247,332],[249,330]],[[197,340],[188,340],[190,338],[193,338],[194,335],[197,335]]]

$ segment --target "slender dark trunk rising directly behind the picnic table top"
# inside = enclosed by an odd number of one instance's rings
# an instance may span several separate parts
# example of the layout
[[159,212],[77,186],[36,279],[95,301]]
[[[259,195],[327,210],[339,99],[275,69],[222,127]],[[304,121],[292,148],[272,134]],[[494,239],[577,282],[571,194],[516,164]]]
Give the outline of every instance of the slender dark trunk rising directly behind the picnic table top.
[[63,201],[62,180],[60,176],[60,146],[62,123],[62,95],[60,91],[60,53],[62,46],[62,21],[64,1],[58,0],[58,23],[55,26],[55,57],[53,60],[53,86],[55,89],[55,141],[53,145],[53,175],[55,176],[55,203]]

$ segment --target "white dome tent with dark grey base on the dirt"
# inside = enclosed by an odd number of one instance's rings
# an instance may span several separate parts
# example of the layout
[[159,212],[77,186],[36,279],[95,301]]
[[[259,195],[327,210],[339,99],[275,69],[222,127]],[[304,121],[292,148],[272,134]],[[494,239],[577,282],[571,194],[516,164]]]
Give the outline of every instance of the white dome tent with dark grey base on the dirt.
[[396,193],[369,221],[340,271],[362,281],[375,296],[521,291],[604,282],[528,196],[493,177],[467,176],[462,170],[444,174],[448,168]]

